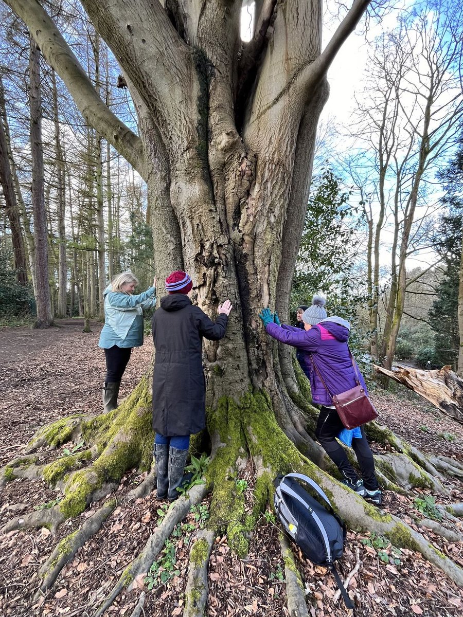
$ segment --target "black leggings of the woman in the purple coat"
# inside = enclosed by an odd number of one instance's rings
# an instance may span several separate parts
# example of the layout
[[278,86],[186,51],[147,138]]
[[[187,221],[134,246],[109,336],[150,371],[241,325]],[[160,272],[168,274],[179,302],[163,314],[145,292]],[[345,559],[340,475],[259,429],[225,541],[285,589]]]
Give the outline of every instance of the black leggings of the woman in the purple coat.
[[[315,436],[317,436],[317,439],[323,446],[323,450],[325,450],[328,457],[335,463],[344,478],[352,480],[355,483],[357,481],[356,471],[351,463],[349,463],[344,448],[335,439],[343,428],[344,425],[335,409],[330,409],[329,407],[322,407],[320,409]],[[365,437],[363,426],[361,426],[360,430],[362,438],[352,439],[352,449],[356,453],[365,488],[369,491],[375,491],[375,489],[378,488],[378,481],[375,476],[373,453]]]

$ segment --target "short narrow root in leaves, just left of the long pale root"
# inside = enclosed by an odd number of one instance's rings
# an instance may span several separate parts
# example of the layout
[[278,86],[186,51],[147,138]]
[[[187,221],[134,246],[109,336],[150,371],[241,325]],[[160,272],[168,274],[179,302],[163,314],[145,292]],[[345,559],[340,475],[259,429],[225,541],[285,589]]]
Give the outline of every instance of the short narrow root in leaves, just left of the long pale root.
[[54,584],[60,571],[72,560],[78,549],[99,531],[101,525],[114,511],[116,503],[115,499],[109,499],[91,518],[85,521],[80,529],[69,534],[56,545],[48,560],[39,570],[39,574],[43,576],[43,581],[35,594],[35,600]]

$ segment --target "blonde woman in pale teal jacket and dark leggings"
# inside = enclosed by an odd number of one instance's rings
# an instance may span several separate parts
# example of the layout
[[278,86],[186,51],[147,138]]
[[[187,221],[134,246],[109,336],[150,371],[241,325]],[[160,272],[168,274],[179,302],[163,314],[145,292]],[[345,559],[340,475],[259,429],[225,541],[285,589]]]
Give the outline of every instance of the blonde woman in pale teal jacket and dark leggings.
[[132,347],[143,345],[143,309],[156,305],[156,276],[152,287],[133,295],[138,280],[131,272],[118,274],[103,292],[104,326],[98,346],[106,356],[106,379],[103,386],[104,411],[117,407],[122,375]]

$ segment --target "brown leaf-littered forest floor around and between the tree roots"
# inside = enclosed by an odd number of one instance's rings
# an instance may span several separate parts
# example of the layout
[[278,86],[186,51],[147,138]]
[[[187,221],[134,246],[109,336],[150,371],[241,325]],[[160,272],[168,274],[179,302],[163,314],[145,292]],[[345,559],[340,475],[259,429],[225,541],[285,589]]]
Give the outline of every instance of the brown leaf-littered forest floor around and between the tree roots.
[[[23,446],[42,424],[72,413],[101,411],[104,355],[98,349],[101,324],[93,323],[84,334],[79,320],[60,320],[48,330],[3,328],[0,331],[0,466],[22,452]],[[152,341],[133,350],[124,375],[121,395],[128,394],[151,362]],[[375,389],[372,398],[380,421],[426,452],[463,460],[463,425],[444,416],[417,395],[398,386],[393,392]],[[68,447],[72,444],[67,444]],[[64,450],[63,445],[62,450]],[[372,449],[379,451],[375,444]],[[43,453],[44,460],[49,454]],[[56,453],[54,453],[56,456]],[[127,494],[146,474],[131,470],[124,476],[117,497]],[[252,470],[243,472],[252,489]],[[450,500],[463,500],[463,486],[448,482]],[[429,492],[427,492],[430,495]],[[422,495],[424,497],[425,495]],[[435,495],[436,502],[445,499]],[[18,513],[49,507],[59,494],[43,482],[17,479],[2,489],[0,526]],[[33,600],[38,588],[38,568],[62,539],[90,517],[100,502],[74,520],[60,526],[56,536],[48,529],[12,531],[0,535],[0,614],[91,616],[102,598],[119,578],[123,568],[143,547],[165,513],[156,494],[117,507],[100,531],[82,547],[60,573],[48,594]],[[188,544],[207,520],[207,500],[192,508],[174,529],[158,559],[162,582],[152,575],[152,590],[143,578],[123,592],[108,615],[130,616],[141,590],[146,591],[144,613],[152,617],[182,615],[183,592],[188,572]],[[383,508],[415,526],[423,516],[414,500],[392,492],[384,494]],[[217,537],[209,562],[207,617],[279,617],[288,615],[284,563],[278,542],[278,527],[272,516],[262,516],[251,539],[246,560],[231,552],[227,537]],[[420,529],[423,532],[423,529]],[[428,541],[463,566],[461,544],[443,540],[424,531]],[[169,565],[169,556],[173,565]],[[340,600],[333,600],[336,585],[324,568],[314,566],[297,551],[297,562],[306,587],[311,617],[346,615]],[[345,578],[359,563],[349,582],[356,615],[369,617],[423,615],[457,617],[462,614],[461,589],[419,553],[398,550],[381,538],[349,531],[339,569]]]

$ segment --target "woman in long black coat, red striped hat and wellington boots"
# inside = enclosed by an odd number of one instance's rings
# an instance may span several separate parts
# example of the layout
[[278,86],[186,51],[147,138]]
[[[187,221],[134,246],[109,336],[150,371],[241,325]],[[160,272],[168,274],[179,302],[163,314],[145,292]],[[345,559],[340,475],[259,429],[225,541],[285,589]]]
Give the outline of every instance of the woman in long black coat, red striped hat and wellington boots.
[[165,280],[169,296],[152,317],[156,349],[152,377],[152,428],[156,431],[157,497],[173,500],[183,479],[190,435],[206,426],[206,383],[202,370],[202,337],[225,335],[230,300],[211,321],[186,295],[193,288],[188,274],[173,272]]

